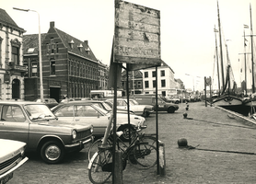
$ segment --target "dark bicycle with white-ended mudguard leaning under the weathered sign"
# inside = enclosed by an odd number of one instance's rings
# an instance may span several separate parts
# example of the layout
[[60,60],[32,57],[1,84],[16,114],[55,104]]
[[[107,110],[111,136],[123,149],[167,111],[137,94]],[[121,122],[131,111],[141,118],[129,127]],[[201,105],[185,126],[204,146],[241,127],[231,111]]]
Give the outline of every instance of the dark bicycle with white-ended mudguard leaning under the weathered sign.
[[[91,146],[96,147],[95,145],[97,145],[98,149],[98,151],[90,158],[88,165],[88,178],[92,183],[102,184],[111,178],[113,146],[117,146],[119,150],[122,150],[122,170],[125,169],[127,160],[131,166],[141,169],[154,167],[157,164],[156,146],[141,142],[138,134],[136,134],[136,139],[134,138],[131,144],[124,144],[119,138],[123,132],[117,132],[117,144],[113,145],[111,143],[111,136],[106,136],[109,135],[108,132],[110,132],[110,129],[111,126],[108,126],[103,140],[98,140],[97,143],[99,144],[94,143],[94,146]],[[154,141],[156,142],[156,138]],[[123,147],[120,143],[122,143]],[[90,155],[92,155],[91,150]]]

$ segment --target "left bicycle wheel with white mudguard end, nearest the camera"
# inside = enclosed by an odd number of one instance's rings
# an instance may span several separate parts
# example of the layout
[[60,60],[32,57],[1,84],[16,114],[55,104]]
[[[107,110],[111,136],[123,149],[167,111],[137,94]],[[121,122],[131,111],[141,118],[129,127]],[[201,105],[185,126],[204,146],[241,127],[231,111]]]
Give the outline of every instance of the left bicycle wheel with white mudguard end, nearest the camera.
[[112,175],[111,150],[101,150],[92,156],[88,166],[88,178],[93,184],[107,182]]

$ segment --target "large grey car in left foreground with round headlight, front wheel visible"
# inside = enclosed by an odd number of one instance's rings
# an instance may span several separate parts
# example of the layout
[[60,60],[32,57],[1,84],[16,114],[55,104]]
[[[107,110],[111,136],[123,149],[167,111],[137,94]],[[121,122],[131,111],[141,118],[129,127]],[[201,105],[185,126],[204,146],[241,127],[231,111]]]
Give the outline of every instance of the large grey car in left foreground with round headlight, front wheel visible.
[[38,152],[50,164],[93,141],[91,125],[58,121],[40,102],[0,101],[0,124],[0,138],[26,143],[27,152]]

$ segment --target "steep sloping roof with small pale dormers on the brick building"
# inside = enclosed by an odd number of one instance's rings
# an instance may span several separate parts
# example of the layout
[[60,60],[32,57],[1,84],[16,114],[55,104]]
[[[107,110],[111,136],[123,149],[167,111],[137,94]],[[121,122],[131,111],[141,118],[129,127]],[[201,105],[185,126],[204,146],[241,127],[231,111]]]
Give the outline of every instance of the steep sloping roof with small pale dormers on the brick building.
[[[65,33],[60,29],[56,29],[56,28],[53,28],[53,29],[55,29],[56,33],[59,35],[60,39],[63,41],[64,47],[67,48],[68,52],[75,53],[78,56],[85,57],[88,60],[98,63],[98,60],[95,57],[94,53],[91,51],[91,49],[87,45],[87,41],[78,40],[75,37]],[[74,42],[73,47],[70,46],[71,41]]]

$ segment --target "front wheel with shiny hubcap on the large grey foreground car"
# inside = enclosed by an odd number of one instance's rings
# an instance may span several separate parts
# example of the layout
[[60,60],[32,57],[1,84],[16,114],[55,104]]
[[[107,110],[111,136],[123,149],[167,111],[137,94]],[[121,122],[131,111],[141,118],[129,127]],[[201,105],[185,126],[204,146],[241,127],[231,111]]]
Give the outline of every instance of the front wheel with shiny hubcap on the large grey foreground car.
[[56,164],[64,158],[64,146],[57,141],[49,141],[41,146],[41,158],[48,164]]

